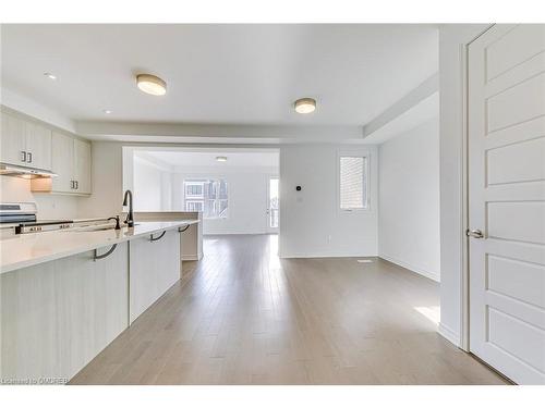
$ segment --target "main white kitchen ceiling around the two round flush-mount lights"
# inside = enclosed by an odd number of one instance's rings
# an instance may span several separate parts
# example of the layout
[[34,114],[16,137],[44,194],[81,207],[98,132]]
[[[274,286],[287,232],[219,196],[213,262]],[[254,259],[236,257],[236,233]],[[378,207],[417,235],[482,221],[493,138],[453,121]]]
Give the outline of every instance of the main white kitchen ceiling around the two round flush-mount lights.
[[[361,126],[438,71],[438,33],[420,24],[2,25],[1,70],[2,87],[75,121]],[[143,72],[167,81],[166,97],[136,88]],[[295,114],[291,103],[307,96],[316,112]]]

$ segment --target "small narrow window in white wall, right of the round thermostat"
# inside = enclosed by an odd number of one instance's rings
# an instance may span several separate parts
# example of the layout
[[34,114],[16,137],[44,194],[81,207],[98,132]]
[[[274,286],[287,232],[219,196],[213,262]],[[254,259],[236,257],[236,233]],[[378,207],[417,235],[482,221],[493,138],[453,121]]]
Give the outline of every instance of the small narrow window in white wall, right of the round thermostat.
[[340,156],[339,158],[339,203],[344,211],[368,208],[367,157]]

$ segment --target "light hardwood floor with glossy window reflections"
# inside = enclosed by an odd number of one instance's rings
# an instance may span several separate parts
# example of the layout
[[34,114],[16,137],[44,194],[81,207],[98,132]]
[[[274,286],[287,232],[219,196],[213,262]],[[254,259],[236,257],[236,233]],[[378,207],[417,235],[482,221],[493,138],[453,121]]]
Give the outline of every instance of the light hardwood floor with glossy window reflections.
[[72,384],[504,384],[436,333],[439,285],[380,259],[284,259],[274,235],[205,258]]

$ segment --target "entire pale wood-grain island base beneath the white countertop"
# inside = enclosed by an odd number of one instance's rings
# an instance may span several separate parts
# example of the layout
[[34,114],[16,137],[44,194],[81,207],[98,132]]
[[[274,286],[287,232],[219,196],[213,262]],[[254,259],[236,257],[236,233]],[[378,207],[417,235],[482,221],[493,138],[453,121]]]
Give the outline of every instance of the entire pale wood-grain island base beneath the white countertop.
[[70,380],[129,327],[180,279],[180,233],[161,234],[1,274],[0,383]]

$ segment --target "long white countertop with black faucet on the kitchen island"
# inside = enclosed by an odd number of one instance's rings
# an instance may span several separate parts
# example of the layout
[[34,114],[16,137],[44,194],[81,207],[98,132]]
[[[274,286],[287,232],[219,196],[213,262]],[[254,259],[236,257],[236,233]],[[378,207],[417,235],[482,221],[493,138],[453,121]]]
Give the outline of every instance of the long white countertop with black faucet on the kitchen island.
[[71,228],[21,234],[0,240],[0,273],[70,257],[161,231],[198,223],[198,220],[136,221],[132,228],[80,231]]

